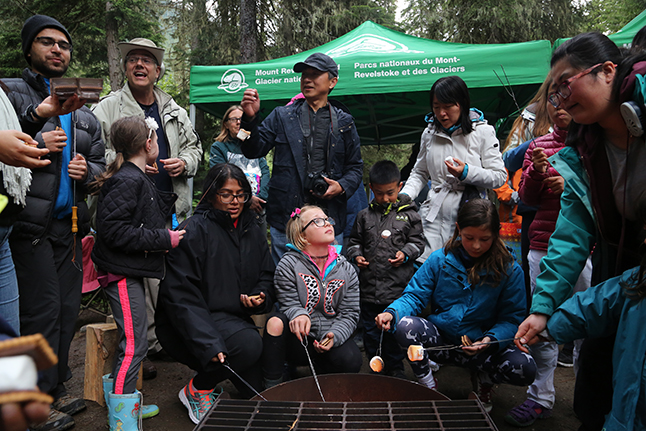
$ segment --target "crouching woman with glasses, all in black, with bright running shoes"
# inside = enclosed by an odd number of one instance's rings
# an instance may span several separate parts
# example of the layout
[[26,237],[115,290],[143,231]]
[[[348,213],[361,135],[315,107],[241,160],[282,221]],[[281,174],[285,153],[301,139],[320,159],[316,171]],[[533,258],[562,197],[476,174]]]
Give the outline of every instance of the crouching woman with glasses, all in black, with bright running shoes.
[[223,380],[245,398],[262,390],[262,338],[251,316],[272,309],[274,263],[250,196],[240,168],[212,167],[160,285],[157,336],[168,354],[197,372],[179,392],[194,423],[209,411]]

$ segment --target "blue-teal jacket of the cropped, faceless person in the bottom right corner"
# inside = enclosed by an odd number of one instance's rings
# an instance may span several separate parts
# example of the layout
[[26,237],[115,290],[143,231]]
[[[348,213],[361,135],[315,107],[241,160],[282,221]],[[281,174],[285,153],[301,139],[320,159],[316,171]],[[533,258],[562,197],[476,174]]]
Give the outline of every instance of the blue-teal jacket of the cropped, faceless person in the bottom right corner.
[[634,284],[630,278],[637,271],[628,270],[575,294],[547,322],[547,330],[558,344],[616,331],[612,410],[606,416],[605,431],[646,428],[646,301],[626,297],[624,289]]

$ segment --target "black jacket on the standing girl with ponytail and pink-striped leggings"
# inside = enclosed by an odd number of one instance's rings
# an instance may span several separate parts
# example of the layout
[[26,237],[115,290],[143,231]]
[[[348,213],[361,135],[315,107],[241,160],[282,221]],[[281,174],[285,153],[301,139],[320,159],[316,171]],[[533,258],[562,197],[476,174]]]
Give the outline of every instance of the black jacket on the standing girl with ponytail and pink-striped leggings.
[[92,260],[103,271],[164,278],[171,249],[166,229],[177,195],[157,190],[136,165],[125,162],[101,187]]

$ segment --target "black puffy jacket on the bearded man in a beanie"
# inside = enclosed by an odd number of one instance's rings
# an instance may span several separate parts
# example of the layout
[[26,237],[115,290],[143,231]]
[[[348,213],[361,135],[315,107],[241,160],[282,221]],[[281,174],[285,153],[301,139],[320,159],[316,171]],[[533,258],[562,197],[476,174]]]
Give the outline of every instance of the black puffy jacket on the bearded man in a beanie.
[[[25,133],[38,141],[38,147],[44,148],[43,132],[55,130],[61,125],[58,117],[51,117],[45,122],[34,121],[27,114],[30,105],[38,106],[45,100],[47,84],[43,77],[29,69],[22,73],[22,79],[4,79],[3,82],[11,90],[7,93],[11,104],[18,114],[20,125]],[[79,207],[79,226],[89,222],[87,206],[85,205],[86,186],[94,177],[105,170],[105,147],[101,140],[101,126],[94,114],[82,107],[72,113],[72,126],[76,127],[76,151],[87,162],[88,175],[85,181],[77,181],[76,201]],[[44,168],[32,170],[31,187],[27,192],[27,205],[20,213],[20,219],[14,224],[13,234],[21,238],[37,241],[47,231],[52,219],[58,187],[60,184],[62,153],[49,153],[46,157],[52,163]],[[70,225],[71,228],[71,225]]]

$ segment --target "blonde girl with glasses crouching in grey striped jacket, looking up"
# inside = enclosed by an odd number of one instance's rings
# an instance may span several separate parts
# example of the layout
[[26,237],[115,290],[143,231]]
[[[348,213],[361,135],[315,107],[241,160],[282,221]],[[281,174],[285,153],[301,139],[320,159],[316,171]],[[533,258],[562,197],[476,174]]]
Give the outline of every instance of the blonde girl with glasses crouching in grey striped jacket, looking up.
[[263,336],[265,388],[283,381],[291,365],[307,365],[307,353],[321,373],[357,373],[361,352],[352,340],[359,320],[359,280],[334,242],[334,220],[317,206],[297,208],[287,222],[288,252],[276,268],[280,308]]

